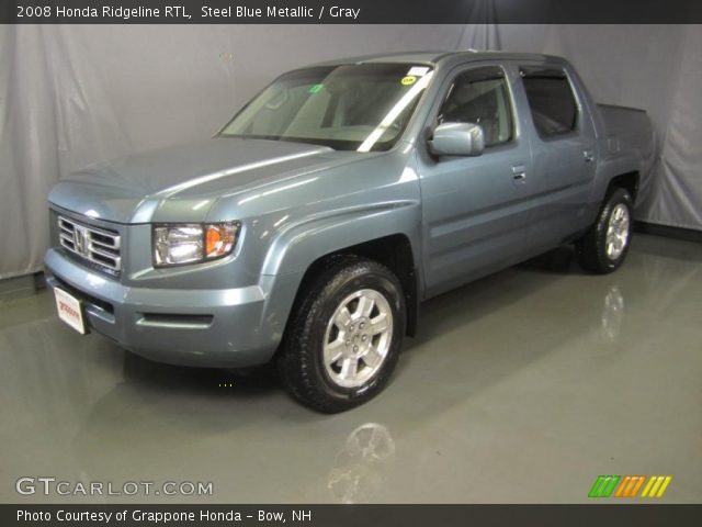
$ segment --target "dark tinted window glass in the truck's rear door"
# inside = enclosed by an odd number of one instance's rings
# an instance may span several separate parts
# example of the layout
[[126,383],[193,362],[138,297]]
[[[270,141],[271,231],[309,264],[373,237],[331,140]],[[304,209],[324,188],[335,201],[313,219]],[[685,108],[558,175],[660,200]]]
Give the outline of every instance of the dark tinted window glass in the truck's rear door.
[[574,131],[578,106],[565,71],[522,68],[521,76],[539,135],[550,137]]

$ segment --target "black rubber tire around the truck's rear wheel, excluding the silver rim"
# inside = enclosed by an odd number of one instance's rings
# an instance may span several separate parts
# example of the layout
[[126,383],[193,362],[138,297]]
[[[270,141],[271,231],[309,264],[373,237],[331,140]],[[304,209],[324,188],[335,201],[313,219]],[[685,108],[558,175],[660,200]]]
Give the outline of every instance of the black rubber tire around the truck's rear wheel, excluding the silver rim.
[[[625,189],[618,188],[608,194],[595,224],[575,244],[575,255],[580,267],[590,272],[605,274],[616,270],[622,265],[629,253],[633,234],[632,203],[632,197]],[[613,257],[608,254],[608,229],[612,214],[620,205],[626,208],[626,242],[621,253]]]

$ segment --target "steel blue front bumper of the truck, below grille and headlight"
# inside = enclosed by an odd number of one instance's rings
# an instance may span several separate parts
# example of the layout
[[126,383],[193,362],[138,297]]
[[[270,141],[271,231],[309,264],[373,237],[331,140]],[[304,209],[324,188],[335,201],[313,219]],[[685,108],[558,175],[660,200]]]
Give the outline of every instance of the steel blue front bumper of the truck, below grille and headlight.
[[[294,277],[262,277],[237,289],[134,288],[95,272],[58,249],[45,260],[46,281],[79,298],[87,324],[120,346],[172,365],[238,368],[268,362],[282,338]],[[275,284],[275,291],[273,291]],[[281,302],[281,299],[284,299]]]

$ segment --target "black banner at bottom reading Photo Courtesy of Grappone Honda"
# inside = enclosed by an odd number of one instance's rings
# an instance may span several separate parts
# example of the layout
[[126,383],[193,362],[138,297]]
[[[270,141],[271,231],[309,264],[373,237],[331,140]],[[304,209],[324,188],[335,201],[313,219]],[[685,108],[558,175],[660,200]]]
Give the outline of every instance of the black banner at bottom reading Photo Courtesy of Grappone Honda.
[[702,505],[0,505],[24,526],[700,526]]

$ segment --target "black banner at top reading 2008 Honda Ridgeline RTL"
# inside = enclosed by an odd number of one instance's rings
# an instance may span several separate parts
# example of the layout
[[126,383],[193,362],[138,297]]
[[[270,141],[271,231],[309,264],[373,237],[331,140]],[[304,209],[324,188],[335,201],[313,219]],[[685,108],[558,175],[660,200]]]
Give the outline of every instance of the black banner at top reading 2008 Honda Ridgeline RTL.
[[700,0],[8,0],[19,24],[682,24]]

